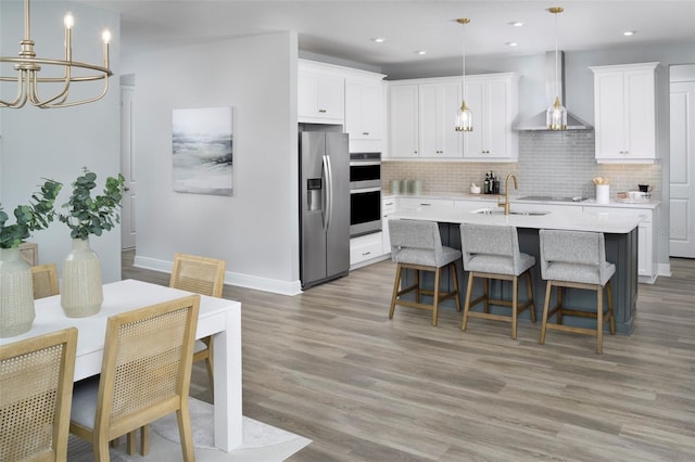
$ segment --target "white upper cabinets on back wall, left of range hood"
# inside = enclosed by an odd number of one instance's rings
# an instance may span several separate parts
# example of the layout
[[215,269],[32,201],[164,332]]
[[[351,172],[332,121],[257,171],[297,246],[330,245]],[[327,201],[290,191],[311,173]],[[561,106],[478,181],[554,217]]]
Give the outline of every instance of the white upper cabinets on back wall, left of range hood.
[[462,77],[390,82],[390,151],[395,158],[516,162],[518,76],[513,73],[466,77],[466,104],[473,131],[455,130],[463,97]]

